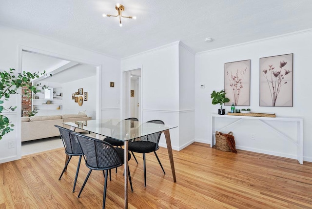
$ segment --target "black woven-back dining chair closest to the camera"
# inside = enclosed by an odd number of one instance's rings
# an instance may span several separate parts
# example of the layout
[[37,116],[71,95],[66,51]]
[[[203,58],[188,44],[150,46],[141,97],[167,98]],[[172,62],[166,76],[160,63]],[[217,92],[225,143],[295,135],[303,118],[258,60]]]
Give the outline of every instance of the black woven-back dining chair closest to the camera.
[[[103,191],[103,209],[105,208],[105,199],[106,199],[106,188],[107,188],[107,175],[108,170],[122,166],[125,162],[124,160],[124,149],[119,147],[114,147],[111,144],[92,138],[90,136],[82,135],[79,133],[73,133],[73,135],[78,139],[78,142],[81,146],[81,149],[84,153],[83,158],[85,160],[86,166],[90,168],[86,179],[83,182],[83,185],[80,189],[80,192],[78,194],[78,198],[80,197],[80,194],[87,183],[89,176],[91,174],[92,170],[102,170],[105,176],[105,182],[104,182],[104,191]],[[128,155],[128,161],[131,158],[131,154]],[[128,169],[128,175],[129,175],[129,182],[131,191],[133,191],[132,188],[132,182],[131,182],[131,175],[130,170]]]

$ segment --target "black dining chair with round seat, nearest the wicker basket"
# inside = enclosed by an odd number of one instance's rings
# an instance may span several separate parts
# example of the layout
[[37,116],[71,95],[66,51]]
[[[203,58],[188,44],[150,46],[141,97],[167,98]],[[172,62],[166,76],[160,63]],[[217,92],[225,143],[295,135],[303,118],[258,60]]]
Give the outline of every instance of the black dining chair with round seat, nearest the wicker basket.
[[[147,123],[165,124],[161,120],[152,120],[152,121],[148,121]],[[160,135],[161,135],[161,132],[157,132],[157,133],[153,133],[147,136],[139,137],[139,138],[134,139],[132,142],[129,142],[129,145],[128,145],[129,151],[143,153],[144,186],[145,187],[146,187],[145,153],[154,152],[162,171],[164,172],[164,174],[166,174],[156,154],[156,150],[159,149],[158,143],[159,143]]]

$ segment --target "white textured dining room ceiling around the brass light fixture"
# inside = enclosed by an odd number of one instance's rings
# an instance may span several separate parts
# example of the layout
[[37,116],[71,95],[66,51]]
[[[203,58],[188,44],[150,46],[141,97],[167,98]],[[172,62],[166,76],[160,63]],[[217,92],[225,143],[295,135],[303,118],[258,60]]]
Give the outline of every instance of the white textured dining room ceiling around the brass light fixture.
[[[117,2],[137,20],[103,18]],[[0,24],[125,58],[176,41],[196,53],[311,29],[311,9],[312,0],[1,0]]]

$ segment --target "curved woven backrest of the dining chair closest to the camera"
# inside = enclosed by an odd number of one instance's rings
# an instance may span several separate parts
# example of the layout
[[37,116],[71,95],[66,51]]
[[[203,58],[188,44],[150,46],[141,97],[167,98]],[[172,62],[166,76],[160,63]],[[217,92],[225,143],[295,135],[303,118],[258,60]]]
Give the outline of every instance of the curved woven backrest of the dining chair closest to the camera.
[[73,135],[78,139],[87,167],[111,169],[123,164],[117,150],[109,143],[76,132]]

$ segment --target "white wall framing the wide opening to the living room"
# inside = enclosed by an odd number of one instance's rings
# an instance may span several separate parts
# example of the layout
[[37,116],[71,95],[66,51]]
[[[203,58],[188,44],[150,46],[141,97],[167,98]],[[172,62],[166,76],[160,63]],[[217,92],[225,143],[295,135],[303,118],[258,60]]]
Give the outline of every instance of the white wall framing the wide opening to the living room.
[[[117,111],[111,112],[111,117],[119,117],[120,92],[118,87],[112,90],[109,82],[115,81],[116,86],[120,85],[120,60],[4,26],[0,26],[0,40],[0,70],[9,68],[20,70],[20,48],[34,49],[57,58],[99,66],[101,83],[98,84],[100,93],[97,98],[100,97],[102,103],[97,103],[98,109],[101,110],[101,114],[105,114],[105,110],[115,108]],[[20,104],[19,97],[13,96],[10,103]],[[16,112],[5,113],[16,126],[13,132],[0,140],[0,163],[20,158],[20,105],[18,108]],[[9,141],[14,141],[16,147],[9,149]]]

